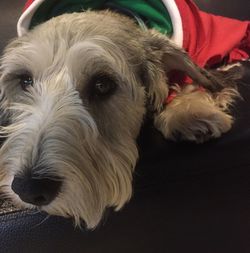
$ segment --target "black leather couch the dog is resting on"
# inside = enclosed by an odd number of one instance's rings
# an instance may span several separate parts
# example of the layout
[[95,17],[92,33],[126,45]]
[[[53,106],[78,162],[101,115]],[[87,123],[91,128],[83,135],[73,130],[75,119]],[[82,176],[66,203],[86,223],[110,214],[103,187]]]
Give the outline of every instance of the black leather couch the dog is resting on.
[[[15,35],[23,0],[0,2],[0,50]],[[250,19],[249,0],[197,0],[216,14]],[[0,215],[1,253],[249,253],[250,82],[234,108],[236,122],[203,145],[164,141],[145,126],[134,196],[107,211],[95,231],[71,220],[15,211]]]

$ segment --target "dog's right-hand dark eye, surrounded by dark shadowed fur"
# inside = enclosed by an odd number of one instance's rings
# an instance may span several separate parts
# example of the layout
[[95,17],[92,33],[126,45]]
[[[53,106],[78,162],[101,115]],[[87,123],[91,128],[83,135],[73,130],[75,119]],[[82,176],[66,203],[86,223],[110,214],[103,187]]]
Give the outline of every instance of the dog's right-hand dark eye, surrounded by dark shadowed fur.
[[114,93],[116,82],[107,76],[99,76],[92,80],[92,95],[95,97],[107,97]]

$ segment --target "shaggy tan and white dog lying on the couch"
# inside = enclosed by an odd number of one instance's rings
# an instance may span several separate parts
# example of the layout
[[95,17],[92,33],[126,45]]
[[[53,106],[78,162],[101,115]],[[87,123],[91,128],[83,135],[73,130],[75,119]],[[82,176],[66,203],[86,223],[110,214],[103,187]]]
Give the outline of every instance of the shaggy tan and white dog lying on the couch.
[[[36,26],[8,45],[0,69],[2,192],[87,228],[131,198],[145,115],[167,139],[202,143],[230,130],[239,96],[239,71],[200,68],[167,36],[108,10]],[[171,85],[172,70],[193,83]]]

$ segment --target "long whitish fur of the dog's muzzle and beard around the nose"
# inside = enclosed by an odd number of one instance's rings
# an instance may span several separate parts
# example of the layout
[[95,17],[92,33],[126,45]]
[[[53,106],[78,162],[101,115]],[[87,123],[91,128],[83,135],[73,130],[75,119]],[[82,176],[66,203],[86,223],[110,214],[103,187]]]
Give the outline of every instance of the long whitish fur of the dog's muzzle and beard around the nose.
[[29,94],[25,104],[10,106],[12,124],[1,130],[7,136],[0,154],[2,190],[16,204],[34,208],[11,190],[14,176],[28,169],[38,178],[58,178],[57,197],[39,209],[93,228],[106,207],[118,210],[131,197],[135,141],[122,134],[115,143],[105,139],[76,92],[43,98],[43,91]]

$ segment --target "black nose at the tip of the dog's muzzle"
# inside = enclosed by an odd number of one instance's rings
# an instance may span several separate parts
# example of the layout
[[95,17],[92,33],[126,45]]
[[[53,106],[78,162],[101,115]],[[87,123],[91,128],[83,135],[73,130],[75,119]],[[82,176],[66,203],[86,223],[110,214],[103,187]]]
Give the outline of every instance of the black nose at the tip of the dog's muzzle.
[[48,205],[58,195],[62,182],[48,178],[35,179],[31,176],[15,176],[12,190],[26,203],[36,206]]

